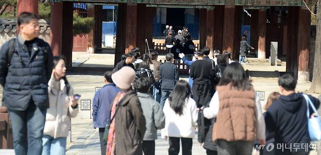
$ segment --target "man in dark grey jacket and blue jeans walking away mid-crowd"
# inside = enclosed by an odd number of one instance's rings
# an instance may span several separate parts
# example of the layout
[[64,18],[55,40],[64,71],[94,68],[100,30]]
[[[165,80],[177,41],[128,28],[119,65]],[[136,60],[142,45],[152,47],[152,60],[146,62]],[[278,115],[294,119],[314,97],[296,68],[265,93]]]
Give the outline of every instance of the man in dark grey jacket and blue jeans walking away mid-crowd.
[[177,69],[177,66],[173,64],[174,55],[168,53],[165,58],[166,62],[161,65],[159,75],[161,83],[161,108],[164,107],[166,99],[172,93],[176,83],[180,80],[179,70]]

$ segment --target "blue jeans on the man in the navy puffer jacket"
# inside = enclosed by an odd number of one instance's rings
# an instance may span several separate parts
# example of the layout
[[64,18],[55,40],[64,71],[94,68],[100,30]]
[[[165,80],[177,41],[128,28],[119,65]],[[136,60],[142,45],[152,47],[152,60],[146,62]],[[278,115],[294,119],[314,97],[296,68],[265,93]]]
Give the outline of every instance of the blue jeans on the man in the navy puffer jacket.
[[41,155],[46,112],[32,100],[24,111],[9,110],[16,155]]

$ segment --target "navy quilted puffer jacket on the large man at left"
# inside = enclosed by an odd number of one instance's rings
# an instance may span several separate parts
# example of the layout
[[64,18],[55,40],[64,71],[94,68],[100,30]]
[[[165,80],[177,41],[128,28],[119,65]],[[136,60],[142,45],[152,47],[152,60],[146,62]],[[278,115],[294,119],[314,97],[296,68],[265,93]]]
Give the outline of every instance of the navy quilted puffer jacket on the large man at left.
[[[48,81],[53,68],[53,54],[48,43],[35,38],[31,54],[18,35],[8,67],[9,41],[0,49],[0,84],[4,88],[2,102],[10,110],[25,110],[30,100],[40,109],[49,107]],[[46,53],[45,53],[46,52]]]

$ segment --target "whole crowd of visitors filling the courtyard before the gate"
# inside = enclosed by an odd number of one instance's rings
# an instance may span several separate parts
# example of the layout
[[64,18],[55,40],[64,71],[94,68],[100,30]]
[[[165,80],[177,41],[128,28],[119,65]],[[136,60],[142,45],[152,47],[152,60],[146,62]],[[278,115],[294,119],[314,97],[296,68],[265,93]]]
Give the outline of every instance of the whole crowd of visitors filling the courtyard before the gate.
[[[54,57],[38,38],[37,16],[21,13],[18,26],[18,37],[0,49],[2,101],[12,121],[15,153],[64,155],[80,95],[68,83],[64,58]],[[140,56],[134,48],[124,54],[104,73],[105,85],[93,100],[101,155],[155,155],[158,130],[168,140],[169,155],[178,155],[180,144],[183,155],[192,155],[196,129],[207,155],[251,155],[254,146],[266,143],[283,147],[263,147],[262,155],[308,155],[310,148],[301,145],[311,142],[307,114],[320,101],[296,92],[297,79],[285,74],[278,81],[281,94],[270,94],[262,113],[242,65],[228,52],[209,53],[208,47],[193,52],[195,60],[178,53],[190,66],[188,82],[180,80],[172,53],[163,64],[156,51]],[[294,144],[301,147],[293,149]]]

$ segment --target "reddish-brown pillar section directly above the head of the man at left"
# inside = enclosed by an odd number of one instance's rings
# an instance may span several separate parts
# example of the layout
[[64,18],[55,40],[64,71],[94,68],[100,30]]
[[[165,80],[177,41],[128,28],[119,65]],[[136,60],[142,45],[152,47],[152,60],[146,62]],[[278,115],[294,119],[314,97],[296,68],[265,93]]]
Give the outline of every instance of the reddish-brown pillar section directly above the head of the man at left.
[[18,0],[18,16],[22,12],[30,12],[38,15],[39,0]]

